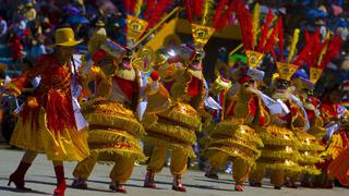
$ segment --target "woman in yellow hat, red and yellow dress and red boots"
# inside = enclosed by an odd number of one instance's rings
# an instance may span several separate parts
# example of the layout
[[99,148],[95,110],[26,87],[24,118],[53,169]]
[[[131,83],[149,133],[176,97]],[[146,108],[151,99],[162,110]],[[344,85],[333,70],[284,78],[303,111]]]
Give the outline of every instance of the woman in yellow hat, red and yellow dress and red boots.
[[35,96],[23,106],[11,144],[26,149],[20,166],[10,175],[16,188],[28,189],[24,176],[39,152],[52,160],[57,176],[53,195],[62,196],[65,192],[63,161],[82,161],[88,155],[87,132],[80,127],[83,119],[75,118],[79,110],[73,101],[73,94],[79,81],[74,63],[73,47],[81,42],[74,39],[71,28],[59,28],[55,35],[56,51],[41,56],[34,69],[21,75],[5,86],[12,95],[20,95],[23,87],[35,76],[41,82]]

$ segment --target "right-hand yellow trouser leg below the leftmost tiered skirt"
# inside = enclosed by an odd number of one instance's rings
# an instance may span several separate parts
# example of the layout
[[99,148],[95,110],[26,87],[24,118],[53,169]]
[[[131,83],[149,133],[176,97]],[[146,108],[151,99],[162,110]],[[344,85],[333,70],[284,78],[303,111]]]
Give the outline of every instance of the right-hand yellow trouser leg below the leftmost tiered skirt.
[[132,174],[134,167],[134,157],[117,157],[116,163],[109,174],[109,177],[120,184],[125,183]]

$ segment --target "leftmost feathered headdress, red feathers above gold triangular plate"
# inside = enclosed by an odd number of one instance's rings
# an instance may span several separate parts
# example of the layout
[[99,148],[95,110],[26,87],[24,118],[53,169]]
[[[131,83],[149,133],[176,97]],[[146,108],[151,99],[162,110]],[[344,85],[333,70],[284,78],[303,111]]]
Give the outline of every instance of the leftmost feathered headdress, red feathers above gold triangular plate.
[[128,46],[132,47],[146,29],[154,27],[172,3],[173,0],[148,0],[147,4],[143,0],[125,0]]

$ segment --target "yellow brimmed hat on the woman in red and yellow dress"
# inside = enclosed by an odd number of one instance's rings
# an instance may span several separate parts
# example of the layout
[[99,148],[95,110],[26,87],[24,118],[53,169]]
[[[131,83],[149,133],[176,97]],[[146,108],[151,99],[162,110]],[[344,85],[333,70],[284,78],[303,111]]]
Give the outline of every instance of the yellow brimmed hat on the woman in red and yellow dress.
[[55,34],[56,46],[73,47],[81,44],[83,40],[75,40],[74,32],[70,27],[59,28]]

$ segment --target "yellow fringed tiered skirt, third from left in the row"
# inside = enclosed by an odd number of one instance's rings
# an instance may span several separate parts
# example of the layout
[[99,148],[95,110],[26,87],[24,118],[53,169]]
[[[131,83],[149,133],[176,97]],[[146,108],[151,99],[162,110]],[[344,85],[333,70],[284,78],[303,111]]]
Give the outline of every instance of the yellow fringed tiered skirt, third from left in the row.
[[[243,125],[243,119],[225,120],[209,131],[209,140],[203,150],[208,159],[219,159],[217,154],[226,154],[229,157],[241,158],[249,166],[254,166],[263,147],[262,139],[256,132],[248,125]],[[212,162],[219,162],[210,160]],[[219,166],[217,166],[219,167]]]

